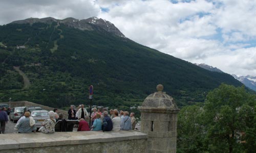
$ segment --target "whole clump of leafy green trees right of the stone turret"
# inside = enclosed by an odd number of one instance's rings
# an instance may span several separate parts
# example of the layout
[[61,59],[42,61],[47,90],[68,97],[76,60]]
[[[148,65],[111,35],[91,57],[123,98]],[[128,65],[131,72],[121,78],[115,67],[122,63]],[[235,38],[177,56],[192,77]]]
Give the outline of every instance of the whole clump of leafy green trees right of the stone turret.
[[256,152],[255,106],[244,87],[222,84],[205,104],[182,108],[178,152]]

